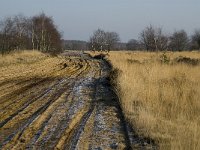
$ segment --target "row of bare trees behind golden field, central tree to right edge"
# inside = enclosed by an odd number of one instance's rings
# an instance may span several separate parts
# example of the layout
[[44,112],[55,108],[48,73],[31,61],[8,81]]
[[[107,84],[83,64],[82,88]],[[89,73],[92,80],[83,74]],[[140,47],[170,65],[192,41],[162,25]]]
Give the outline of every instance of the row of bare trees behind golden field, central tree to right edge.
[[[138,40],[131,39],[126,43],[120,43],[120,37],[116,32],[110,36],[101,29],[96,30],[89,40],[92,50],[147,50],[147,51],[183,51],[200,50],[200,30],[195,30],[193,35],[188,36],[186,31],[174,31],[171,35],[165,34],[162,28],[152,25],[147,26],[139,34]],[[110,42],[111,41],[111,42]],[[109,47],[107,47],[109,45]],[[123,48],[123,49],[120,49]]]

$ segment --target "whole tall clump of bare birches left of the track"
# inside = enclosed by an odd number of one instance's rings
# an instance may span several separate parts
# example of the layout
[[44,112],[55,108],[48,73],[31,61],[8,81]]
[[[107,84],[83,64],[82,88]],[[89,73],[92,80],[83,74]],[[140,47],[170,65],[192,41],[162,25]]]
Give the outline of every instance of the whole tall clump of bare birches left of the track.
[[62,50],[61,33],[52,17],[41,13],[32,17],[16,15],[0,21],[0,52],[25,49],[50,53]]

